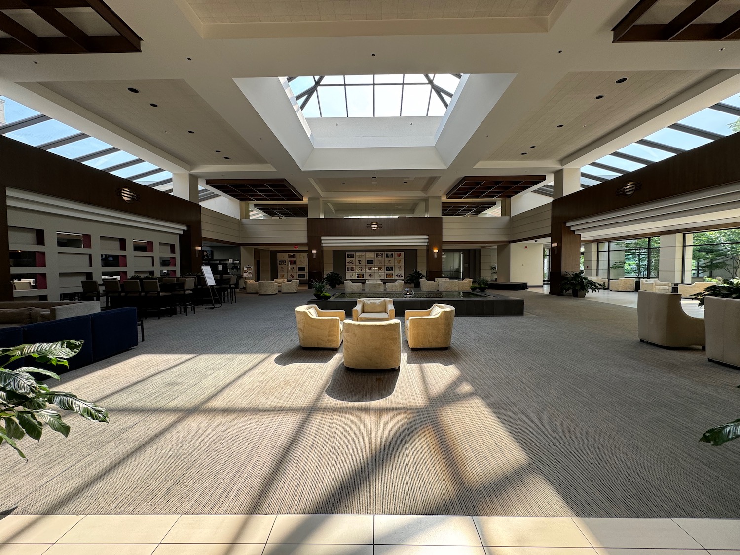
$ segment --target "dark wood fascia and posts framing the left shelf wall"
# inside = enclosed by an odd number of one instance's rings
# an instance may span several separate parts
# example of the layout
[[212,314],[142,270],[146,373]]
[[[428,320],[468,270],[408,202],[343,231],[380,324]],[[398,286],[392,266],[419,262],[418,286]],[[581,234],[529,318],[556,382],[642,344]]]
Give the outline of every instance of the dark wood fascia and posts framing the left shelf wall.
[[[181,269],[196,271],[201,258],[195,246],[201,245],[201,206],[182,198],[119,178],[108,172],[67,160],[27,144],[0,136],[0,255],[8,258],[6,189],[22,189],[129,212],[131,214],[181,223],[186,230],[180,237]],[[138,201],[127,203],[118,194],[121,188],[138,195]],[[4,249],[4,250],[3,250]],[[10,269],[0,268],[0,300],[13,300]],[[7,295],[10,287],[10,296]]]

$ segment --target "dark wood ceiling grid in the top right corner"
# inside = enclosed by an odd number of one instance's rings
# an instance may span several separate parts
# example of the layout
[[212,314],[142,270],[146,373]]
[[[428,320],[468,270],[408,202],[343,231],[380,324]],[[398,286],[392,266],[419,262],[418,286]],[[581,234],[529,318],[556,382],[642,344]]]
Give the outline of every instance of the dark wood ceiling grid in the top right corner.
[[694,23],[719,0],[693,0],[672,20],[661,24],[640,24],[639,20],[656,4],[669,0],[640,0],[612,29],[613,42],[737,41],[740,40],[740,10],[717,23]]

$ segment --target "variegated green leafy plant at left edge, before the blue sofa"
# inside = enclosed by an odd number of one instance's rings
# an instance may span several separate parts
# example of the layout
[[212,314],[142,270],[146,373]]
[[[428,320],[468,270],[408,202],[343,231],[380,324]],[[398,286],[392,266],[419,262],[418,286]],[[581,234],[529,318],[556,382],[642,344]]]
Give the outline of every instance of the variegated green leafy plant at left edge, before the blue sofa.
[[[67,366],[67,359],[82,348],[81,341],[58,341],[57,343],[37,343],[21,345],[11,349],[0,349],[0,357],[10,357],[7,366],[22,357],[32,357],[38,363],[53,366]],[[70,426],[61,419],[58,411],[49,408],[56,405],[65,411],[73,411],[87,420],[108,422],[108,412],[90,401],[80,399],[68,391],[55,391],[36,380],[32,374],[59,377],[52,371],[35,366],[21,366],[17,369],[0,368],[0,444],[5,442],[23,457],[18,440],[29,436],[41,439],[44,424],[64,437],[70,433]]]

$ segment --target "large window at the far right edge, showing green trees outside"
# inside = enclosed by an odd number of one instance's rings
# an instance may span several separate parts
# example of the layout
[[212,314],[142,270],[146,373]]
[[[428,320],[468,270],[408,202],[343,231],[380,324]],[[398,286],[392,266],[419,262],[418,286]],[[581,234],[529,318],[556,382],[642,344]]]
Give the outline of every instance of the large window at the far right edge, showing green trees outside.
[[740,277],[740,229],[684,234],[684,281]]

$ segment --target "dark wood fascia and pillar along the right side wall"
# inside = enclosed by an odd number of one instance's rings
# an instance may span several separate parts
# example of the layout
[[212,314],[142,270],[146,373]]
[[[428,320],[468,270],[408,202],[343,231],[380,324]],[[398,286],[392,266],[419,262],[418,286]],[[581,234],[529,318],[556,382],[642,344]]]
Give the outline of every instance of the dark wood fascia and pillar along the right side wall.
[[[559,244],[557,251],[551,251],[551,294],[559,295],[562,272],[579,269],[581,238],[568,229],[566,222],[720,185],[740,184],[738,152],[740,133],[556,198],[552,203],[551,238]],[[630,181],[639,184],[639,190],[630,197],[619,195]]]

